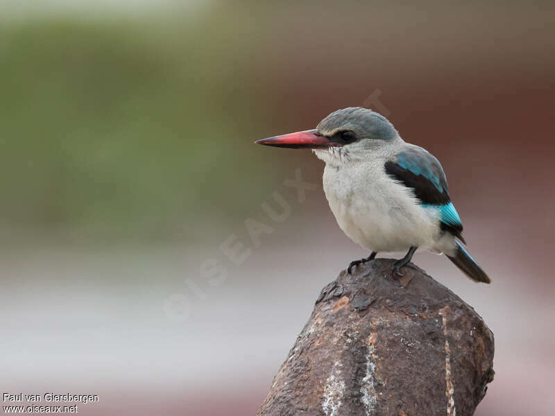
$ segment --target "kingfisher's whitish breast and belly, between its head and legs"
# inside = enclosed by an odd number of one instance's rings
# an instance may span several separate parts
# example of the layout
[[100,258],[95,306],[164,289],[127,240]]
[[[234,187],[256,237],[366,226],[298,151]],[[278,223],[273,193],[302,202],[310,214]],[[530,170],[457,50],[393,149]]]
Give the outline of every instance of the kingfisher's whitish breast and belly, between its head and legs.
[[421,207],[409,189],[389,177],[382,158],[326,164],[323,186],[339,227],[367,250],[436,251],[437,212]]

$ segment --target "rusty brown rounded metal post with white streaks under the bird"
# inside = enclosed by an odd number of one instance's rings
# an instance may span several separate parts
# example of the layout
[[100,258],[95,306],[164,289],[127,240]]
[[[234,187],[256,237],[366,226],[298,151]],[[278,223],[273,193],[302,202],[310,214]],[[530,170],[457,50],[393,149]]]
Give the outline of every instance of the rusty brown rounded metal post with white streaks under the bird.
[[493,333],[423,270],[393,279],[392,265],[323,288],[259,415],[474,413],[493,380]]

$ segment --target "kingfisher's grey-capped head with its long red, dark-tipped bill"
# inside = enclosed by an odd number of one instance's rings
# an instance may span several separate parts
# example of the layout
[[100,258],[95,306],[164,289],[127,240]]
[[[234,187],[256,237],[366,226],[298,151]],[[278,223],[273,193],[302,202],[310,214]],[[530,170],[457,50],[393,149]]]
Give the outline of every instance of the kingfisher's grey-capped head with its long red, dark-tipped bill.
[[399,134],[382,114],[363,107],[332,112],[314,130],[268,137],[255,143],[283,148],[310,148],[326,163],[367,159]]

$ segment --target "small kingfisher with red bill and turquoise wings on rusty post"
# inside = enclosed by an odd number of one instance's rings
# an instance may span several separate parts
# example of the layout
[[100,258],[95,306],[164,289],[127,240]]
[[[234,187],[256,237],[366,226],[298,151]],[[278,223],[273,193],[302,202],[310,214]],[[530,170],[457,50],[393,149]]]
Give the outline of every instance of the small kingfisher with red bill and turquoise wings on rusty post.
[[382,114],[346,107],[326,116],[316,129],[255,143],[309,148],[325,162],[323,189],[330,209],[341,230],[370,252],[351,261],[348,273],[378,252],[407,252],[393,263],[393,273],[403,276],[418,250],[445,254],[472,281],[490,283],[465,248],[463,223],[440,162],[425,148],[404,141]]

